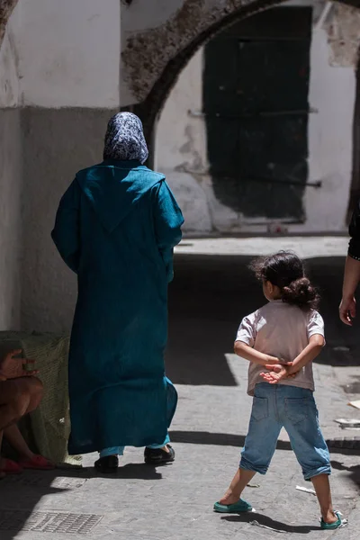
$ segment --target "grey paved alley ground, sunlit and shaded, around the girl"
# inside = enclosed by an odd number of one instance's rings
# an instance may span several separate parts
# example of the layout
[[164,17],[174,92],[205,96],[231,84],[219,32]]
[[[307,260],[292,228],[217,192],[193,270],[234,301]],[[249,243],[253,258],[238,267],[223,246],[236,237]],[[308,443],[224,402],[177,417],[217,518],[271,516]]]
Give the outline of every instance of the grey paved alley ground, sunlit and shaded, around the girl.
[[253,250],[268,252],[284,245],[280,239],[236,242],[236,256],[228,249],[219,256],[176,257],[166,359],[180,395],[172,426],[175,464],[148,467],[142,464],[142,450],[130,448],[116,478],[97,476],[90,466],[95,456],[90,455],[85,458],[89,468],[82,471],[6,479],[0,483],[0,540],[359,538],[360,450],[335,448],[344,437],[343,446],[358,447],[353,439],[360,437],[359,431],[343,431],[334,422],[360,419],[360,411],[347,406],[349,399],[360,399],[358,330],[337,319],[344,238],[336,238],[329,249],[320,239],[315,251],[313,238],[286,242],[310,257],[311,275],[324,297],[328,347],[314,366],[317,401],[324,434],[334,447],[335,504],[349,517],[349,526],[320,531],[315,497],[296,490],[297,485],[311,486],[302,479],[285,433],[269,473],[255,477],[256,487],[247,488],[246,498],[257,512],[238,517],[211,511],[237,467],[251,406],[245,391],[247,365],[231,354],[238,320],[263,302],[246,269],[247,256],[253,254],[249,246],[256,242]]

